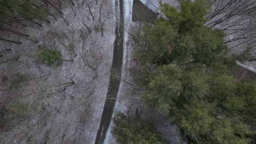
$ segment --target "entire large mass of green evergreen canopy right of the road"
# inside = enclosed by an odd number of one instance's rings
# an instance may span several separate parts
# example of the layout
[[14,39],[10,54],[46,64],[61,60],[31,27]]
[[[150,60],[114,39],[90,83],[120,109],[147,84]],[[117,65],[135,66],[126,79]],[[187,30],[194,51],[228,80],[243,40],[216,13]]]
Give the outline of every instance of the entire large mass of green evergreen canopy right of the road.
[[[167,116],[192,143],[249,143],[255,139],[256,83],[238,81],[224,33],[204,26],[203,0],[161,4],[165,18],[145,26],[137,57],[142,98]],[[156,65],[155,65],[156,64]],[[150,68],[149,68],[150,67]]]

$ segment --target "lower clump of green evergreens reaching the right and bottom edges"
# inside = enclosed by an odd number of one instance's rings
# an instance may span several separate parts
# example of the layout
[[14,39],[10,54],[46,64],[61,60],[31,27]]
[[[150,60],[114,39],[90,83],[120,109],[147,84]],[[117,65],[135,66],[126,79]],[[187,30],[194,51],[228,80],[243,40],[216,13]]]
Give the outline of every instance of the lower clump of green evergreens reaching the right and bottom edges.
[[141,86],[146,103],[176,123],[190,142],[253,139],[256,83],[235,82],[223,65],[163,65],[148,71]]

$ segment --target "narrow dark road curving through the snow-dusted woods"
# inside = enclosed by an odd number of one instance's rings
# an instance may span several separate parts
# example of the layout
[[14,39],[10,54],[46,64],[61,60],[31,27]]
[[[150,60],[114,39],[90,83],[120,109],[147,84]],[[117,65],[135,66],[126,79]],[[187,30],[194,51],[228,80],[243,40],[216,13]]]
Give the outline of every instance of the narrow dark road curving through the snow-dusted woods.
[[[119,1],[119,2],[118,2]],[[115,41],[114,41],[114,53],[113,53],[113,63],[111,67],[110,81],[108,86],[108,93],[106,103],[104,105],[100,127],[98,128],[95,144],[103,143],[106,132],[108,130],[115,101],[120,85],[121,80],[121,69],[123,64],[123,51],[124,51],[124,7],[123,0],[115,0],[116,3],[116,12],[120,12],[120,17],[116,17],[116,26],[115,26]],[[118,4],[119,3],[119,7]],[[118,10],[118,8],[120,8]],[[118,15],[117,15],[118,16]],[[120,21],[118,21],[120,20]]]

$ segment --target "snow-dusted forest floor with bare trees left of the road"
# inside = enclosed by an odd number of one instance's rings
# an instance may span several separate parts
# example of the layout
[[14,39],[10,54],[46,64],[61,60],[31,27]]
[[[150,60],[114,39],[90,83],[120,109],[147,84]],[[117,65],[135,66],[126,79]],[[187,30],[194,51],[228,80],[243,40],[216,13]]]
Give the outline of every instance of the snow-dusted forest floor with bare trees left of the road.
[[[28,27],[11,26],[38,43],[0,33],[1,38],[22,42],[0,43],[1,106],[8,108],[19,101],[26,107],[22,115],[10,111],[14,113],[9,117],[10,127],[0,133],[0,143],[94,143],[113,59],[115,2],[88,2],[75,1],[72,5],[53,1],[63,15],[48,5],[56,14],[56,19],[48,17],[51,23],[43,27],[31,23],[26,23]],[[67,61],[60,67],[37,63],[35,54],[40,45],[60,50]],[[10,89],[21,75],[26,81]]]

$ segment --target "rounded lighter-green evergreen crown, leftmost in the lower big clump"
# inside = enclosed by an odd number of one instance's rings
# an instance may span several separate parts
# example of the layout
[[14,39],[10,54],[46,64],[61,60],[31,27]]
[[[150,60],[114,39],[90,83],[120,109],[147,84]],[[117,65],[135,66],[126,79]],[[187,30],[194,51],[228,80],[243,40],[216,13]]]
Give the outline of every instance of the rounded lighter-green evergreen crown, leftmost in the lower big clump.
[[143,91],[143,98],[147,104],[168,115],[182,93],[182,70],[176,65],[164,65],[148,72],[141,80],[142,87],[146,89]]

